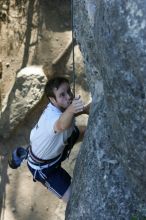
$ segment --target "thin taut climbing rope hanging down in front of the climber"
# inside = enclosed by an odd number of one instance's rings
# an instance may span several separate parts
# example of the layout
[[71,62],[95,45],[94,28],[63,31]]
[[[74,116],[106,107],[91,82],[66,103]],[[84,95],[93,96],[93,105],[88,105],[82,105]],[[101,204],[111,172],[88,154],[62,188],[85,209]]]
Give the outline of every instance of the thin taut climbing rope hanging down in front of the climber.
[[75,81],[76,81],[76,73],[75,73],[75,51],[74,51],[74,4],[73,0],[71,0],[71,27],[72,27],[72,56],[73,56],[73,95],[75,97]]

